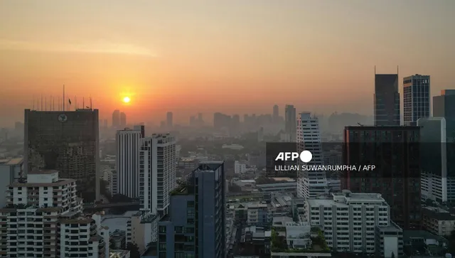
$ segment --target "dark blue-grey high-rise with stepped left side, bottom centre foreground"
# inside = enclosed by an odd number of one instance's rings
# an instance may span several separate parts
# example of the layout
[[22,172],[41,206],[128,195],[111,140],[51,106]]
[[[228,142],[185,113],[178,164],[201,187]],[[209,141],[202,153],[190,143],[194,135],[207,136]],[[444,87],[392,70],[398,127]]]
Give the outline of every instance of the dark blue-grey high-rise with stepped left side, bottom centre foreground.
[[158,257],[226,257],[224,161],[201,161],[171,193],[158,223]]

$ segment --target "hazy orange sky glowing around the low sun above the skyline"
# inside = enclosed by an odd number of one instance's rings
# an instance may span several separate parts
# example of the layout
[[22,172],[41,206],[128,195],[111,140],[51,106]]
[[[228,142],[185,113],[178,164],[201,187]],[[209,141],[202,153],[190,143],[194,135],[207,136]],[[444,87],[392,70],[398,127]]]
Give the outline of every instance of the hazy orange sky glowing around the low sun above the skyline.
[[102,118],[372,114],[374,65],[455,88],[454,24],[454,0],[2,0],[0,121],[62,85]]

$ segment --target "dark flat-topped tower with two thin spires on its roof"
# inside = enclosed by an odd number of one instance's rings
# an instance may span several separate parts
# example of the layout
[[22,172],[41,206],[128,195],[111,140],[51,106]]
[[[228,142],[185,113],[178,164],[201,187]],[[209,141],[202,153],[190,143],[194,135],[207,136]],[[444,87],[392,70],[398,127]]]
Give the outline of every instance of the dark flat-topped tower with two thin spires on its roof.
[[400,125],[398,75],[375,75],[375,126]]

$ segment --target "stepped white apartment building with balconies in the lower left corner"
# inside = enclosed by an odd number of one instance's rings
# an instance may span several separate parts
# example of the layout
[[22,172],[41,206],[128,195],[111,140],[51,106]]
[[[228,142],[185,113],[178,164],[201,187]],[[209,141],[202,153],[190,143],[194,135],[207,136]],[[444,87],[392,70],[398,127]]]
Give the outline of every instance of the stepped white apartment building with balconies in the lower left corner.
[[74,179],[28,171],[26,183],[8,186],[6,203],[0,209],[0,257],[105,257],[97,227],[80,216]]

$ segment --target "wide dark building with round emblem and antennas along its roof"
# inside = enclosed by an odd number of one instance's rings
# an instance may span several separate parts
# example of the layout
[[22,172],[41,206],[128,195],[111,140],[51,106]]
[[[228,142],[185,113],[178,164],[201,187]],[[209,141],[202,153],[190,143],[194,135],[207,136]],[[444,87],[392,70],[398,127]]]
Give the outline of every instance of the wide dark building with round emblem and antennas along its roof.
[[100,200],[98,109],[25,110],[24,174],[55,169],[77,180],[87,202]]

